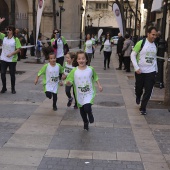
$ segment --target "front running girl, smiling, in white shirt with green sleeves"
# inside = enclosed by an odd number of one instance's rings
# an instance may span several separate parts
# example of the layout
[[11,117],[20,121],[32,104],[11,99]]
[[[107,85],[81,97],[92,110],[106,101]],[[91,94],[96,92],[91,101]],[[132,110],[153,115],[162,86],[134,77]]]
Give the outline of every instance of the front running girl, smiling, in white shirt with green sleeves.
[[84,122],[84,129],[88,130],[89,122],[94,122],[91,108],[96,94],[94,82],[97,82],[100,92],[103,88],[100,85],[94,68],[87,66],[88,56],[84,52],[80,51],[77,53],[73,64],[77,67],[67,76],[66,85],[70,86],[73,84],[74,86],[77,105],[80,108],[80,114]]

